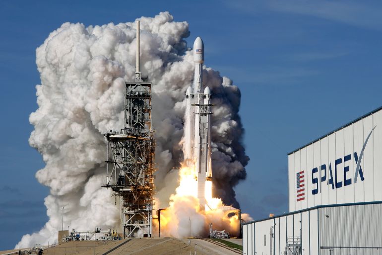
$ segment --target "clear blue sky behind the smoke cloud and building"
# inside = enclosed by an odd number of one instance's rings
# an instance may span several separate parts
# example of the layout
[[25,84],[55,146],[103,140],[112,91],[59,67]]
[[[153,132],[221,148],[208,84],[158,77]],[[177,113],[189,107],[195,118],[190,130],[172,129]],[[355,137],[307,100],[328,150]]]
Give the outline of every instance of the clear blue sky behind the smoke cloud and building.
[[28,116],[40,84],[35,49],[62,23],[101,25],[170,11],[205,44],[205,64],[242,91],[254,218],[287,208],[287,153],[382,105],[382,3],[352,0],[0,2],[0,250],[47,221],[44,165]]

